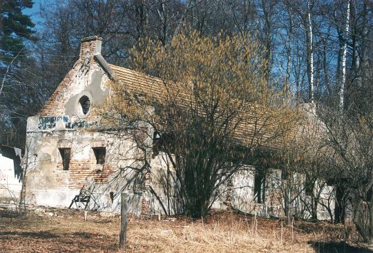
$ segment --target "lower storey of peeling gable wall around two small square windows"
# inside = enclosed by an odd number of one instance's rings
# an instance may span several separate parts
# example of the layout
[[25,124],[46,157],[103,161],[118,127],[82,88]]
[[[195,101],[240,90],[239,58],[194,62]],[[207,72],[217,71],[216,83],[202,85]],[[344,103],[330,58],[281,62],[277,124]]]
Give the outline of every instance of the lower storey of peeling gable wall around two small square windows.
[[[141,169],[144,164],[136,159],[138,150],[130,139],[126,135],[119,137],[117,134],[84,130],[29,132],[26,200],[37,205],[68,207],[84,186],[84,189],[93,193],[93,199],[97,203],[91,201],[90,208],[104,212],[119,212],[121,192],[127,192],[128,212],[163,214],[162,206],[151,194],[149,187],[152,187],[164,205],[168,206],[167,198],[162,192],[163,188],[157,181],[164,172],[164,161],[160,156],[151,160],[153,170],[148,179],[146,170],[143,174],[137,175],[132,168]],[[58,150],[61,143],[64,143],[64,146],[69,143],[71,147],[69,170],[62,168]],[[97,146],[97,143],[106,147],[105,165],[95,164],[92,148]],[[175,202],[175,198],[171,197],[171,212],[167,213],[175,213]]]

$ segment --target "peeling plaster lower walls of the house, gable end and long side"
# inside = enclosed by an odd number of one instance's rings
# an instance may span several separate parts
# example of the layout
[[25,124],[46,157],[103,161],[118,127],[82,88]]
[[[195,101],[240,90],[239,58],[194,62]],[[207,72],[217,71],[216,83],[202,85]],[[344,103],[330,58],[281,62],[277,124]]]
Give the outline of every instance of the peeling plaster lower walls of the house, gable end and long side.
[[[134,170],[128,169],[129,167],[140,169],[144,165],[136,159],[141,157],[138,157],[138,150],[135,148],[135,143],[131,141],[130,135],[87,132],[84,128],[64,131],[39,130],[39,132],[28,132],[28,141],[31,141],[26,181],[28,188],[26,196],[29,203],[68,207],[73,197],[84,186],[86,190],[93,192],[93,198],[97,202],[96,205],[91,202],[90,208],[93,209],[119,212],[121,192],[127,192],[128,212],[133,214],[165,214],[164,209],[167,214],[182,211],[171,179],[169,179],[169,187],[166,186],[167,173],[174,172],[165,154],[160,152],[153,159],[149,159],[151,168],[149,172],[144,170],[144,173],[136,175]],[[61,145],[71,147],[68,171],[62,170],[58,150]],[[104,166],[95,164],[92,148],[97,145],[106,147]],[[137,180],[134,180],[134,177],[137,177]],[[281,171],[267,172],[265,203],[254,201],[254,177],[255,168],[249,165],[234,174],[231,191],[226,192],[227,185],[224,185],[221,189],[224,193],[214,203],[213,208],[225,209],[227,205],[224,202],[229,200],[233,208],[242,212],[256,213],[260,216],[282,216]],[[305,176],[294,174],[294,182],[296,182],[294,187],[302,191]],[[151,193],[150,188],[157,193],[163,207]],[[327,199],[331,206],[334,205],[332,190],[333,188],[326,187],[322,194],[324,199],[331,196]],[[110,192],[113,192],[113,198]],[[304,192],[300,196],[305,198]],[[300,197],[294,200],[292,209],[294,214],[308,217]],[[329,219],[329,214],[321,205],[318,206],[318,216],[320,219]]]

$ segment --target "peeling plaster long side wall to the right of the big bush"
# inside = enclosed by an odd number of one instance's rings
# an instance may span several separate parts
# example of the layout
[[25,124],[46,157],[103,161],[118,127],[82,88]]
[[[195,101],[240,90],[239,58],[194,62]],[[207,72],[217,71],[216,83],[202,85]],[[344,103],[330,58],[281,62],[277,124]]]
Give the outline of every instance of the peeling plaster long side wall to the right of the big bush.
[[[213,204],[213,208],[224,209],[227,205],[232,208],[249,214],[259,216],[280,217],[284,215],[285,181],[281,178],[281,170],[269,169],[265,174],[265,201],[256,203],[254,197],[254,182],[256,169],[245,165],[241,170],[233,174],[229,183],[222,185],[222,196]],[[317,215],[320,220],[330,220],[330,214],[325,208],[334,210],[335,198],[334,188],[326,185],[325,181],[319,180],[315,183],[314,192],[321,191],[319,203],[317,205]],[[309,196],[305,195],[305,175],[294,173],[291,185],[291,212],[294,216],[303,219],[310,219],[305,203]],[[308,200],[309,201],[309,200]],[[323,203],[323,205],[321,205]]]

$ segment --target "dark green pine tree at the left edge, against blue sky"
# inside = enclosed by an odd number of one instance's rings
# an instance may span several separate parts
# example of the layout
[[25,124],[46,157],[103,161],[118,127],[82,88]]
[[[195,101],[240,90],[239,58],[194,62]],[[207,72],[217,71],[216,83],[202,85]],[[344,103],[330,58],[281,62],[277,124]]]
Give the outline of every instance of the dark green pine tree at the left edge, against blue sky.
[[36,41],[36,37],[35,24],[22,12],[32,5],[31,0],[0,1],[0,143],[19,148],[23,148],[26,129],[22,109],[36,100],[23,71],[33,62],[24,49],[25,41]]

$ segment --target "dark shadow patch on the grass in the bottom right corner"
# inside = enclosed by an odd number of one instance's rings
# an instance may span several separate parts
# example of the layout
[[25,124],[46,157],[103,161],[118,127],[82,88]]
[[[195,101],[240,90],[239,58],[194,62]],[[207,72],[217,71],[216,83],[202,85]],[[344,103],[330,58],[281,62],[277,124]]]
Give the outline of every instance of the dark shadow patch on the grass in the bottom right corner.
[[344,241],[339,243],[309,241],[308,243],[314,247],[314,250],[317,253],[373,253],[373,250],[369,250],[366,247],[355,247],[348,245]]

